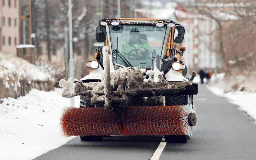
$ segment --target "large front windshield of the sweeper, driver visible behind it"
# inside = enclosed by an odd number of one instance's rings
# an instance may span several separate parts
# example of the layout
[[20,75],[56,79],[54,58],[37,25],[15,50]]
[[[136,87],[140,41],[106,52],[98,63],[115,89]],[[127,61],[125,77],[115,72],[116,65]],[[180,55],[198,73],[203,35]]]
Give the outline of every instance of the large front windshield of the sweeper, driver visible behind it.
[[[117,55],[117,64],[125,67],[131,65],[139,67],[140,63],[146,63],[146,68],[151,68],[151,58],[156,55],[161,56],[167,43],[169,30],[167,26],[110,25],[113,57],[116,56],[117,49],[120,53]],[[118,48],[116,48],[117,38]]]

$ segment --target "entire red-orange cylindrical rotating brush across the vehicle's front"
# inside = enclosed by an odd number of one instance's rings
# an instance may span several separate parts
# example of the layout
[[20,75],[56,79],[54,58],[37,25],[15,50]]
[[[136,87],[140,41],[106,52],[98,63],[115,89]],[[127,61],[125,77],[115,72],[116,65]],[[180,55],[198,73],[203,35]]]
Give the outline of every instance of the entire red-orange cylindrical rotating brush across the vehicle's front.
[[[104,108],[68,108],[61,117],[65,136],[86,135],[189,135],[195,132],[188,106],[127,107],[120,123]],[[193,117],[192,117],[193,118]],[[194,116],[196,122],[196,116]]]

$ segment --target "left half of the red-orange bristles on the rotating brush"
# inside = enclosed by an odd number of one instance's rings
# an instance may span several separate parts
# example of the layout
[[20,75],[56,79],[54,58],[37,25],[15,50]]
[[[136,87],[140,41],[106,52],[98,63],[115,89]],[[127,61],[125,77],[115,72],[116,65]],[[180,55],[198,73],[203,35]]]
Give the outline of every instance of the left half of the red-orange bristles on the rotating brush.
[[67,108],[60,124],[67,137],[122,133],[122,126],[113,111],[104,108]]

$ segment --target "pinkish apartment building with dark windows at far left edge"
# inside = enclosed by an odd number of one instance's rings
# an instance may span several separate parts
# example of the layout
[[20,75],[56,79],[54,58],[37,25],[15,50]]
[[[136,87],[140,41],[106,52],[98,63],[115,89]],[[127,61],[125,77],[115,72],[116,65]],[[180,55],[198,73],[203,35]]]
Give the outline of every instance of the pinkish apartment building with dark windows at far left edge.
[[0,51],[16,55],[19,41],[19,1],[1,0]]

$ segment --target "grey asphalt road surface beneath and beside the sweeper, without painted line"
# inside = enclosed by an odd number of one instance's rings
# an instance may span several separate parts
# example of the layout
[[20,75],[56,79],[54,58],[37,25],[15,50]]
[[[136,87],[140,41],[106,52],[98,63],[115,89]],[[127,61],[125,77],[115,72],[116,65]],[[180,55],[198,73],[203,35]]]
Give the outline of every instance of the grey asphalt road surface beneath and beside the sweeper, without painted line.
[[[238,109],[199,86],[194,96],[197,131],[188,143],[167,143],[160,160],[170,159],[256,159],[256,125]],[[252,104],[253,106],[253,104]],[[100,142],[83,142],[77,137],[36,160],[148,160],[161,137],[109,137]]]

